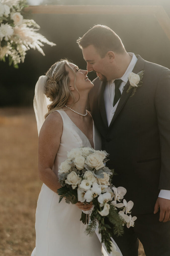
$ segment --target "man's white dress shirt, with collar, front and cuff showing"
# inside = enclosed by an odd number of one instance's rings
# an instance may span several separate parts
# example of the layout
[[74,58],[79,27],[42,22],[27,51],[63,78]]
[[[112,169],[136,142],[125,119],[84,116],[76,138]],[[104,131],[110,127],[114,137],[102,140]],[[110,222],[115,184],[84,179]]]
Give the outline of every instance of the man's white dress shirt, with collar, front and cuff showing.
[[[135,64],[138,60],[134,53],[129,52],[128,54],[130,56],[132,56],[132,60],[130,61],[130,64],[127,67],[124,75],[120,78],[117,78],[117,79],[122,79],[122,83],[119,87],[119,90],[120,90],[121,94],[122,94],[123,87],[125,86],[125,84],[128,81],[129,73],[132,72],[132,70],[134,69]],[[105,109],[106,109],[108,126],[110,125],[110,123],[112,121],[112,118],[114,116],[114,113],[116,111],[117,105],[118,105],[119,100],[120,100],[119,99],[113,107],[113,100],[114,100],[114,95],[115,95],[115,84],[114,84],[115,80],[108,81],[108,83],[106,84],[106,87],[104,89],[104,104],[105,104]],[[170,190],[161,189],[158,197],[170,200]]]

